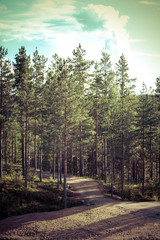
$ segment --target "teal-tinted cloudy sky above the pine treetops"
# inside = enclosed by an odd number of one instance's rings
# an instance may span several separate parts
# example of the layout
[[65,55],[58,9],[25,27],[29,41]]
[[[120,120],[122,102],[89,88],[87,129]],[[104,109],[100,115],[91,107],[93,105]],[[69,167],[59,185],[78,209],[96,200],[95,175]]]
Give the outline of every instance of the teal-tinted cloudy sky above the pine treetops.
[[113,67],[124,54],[137,91],[160,76],[159,25],[160,0],[0,0],[0,46],[11,61],[21,46],[48,62],[72,57],[79,43],[96,61],[106,48]]

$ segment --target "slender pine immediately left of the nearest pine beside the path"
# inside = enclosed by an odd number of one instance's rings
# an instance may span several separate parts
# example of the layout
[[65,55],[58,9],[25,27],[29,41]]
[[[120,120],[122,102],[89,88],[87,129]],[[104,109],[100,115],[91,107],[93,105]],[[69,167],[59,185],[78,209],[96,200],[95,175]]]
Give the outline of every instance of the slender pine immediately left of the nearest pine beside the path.
[[[47,108],[48,139],[54,146],[54,155],[58,157],[57,170],[58,182],[60,180],[61,169],[60,159],[62,159],[62,133],[64,128],[64,79],[62,76],[62,58],[57,54],[52,57],[51,65],[47,72],[47,81],[45,84],[45,99]],[[55,165],[55,164],[54,164]],[[55,166],[54,166],[55,167]],[[59,183],[58,183],[59,185]]]

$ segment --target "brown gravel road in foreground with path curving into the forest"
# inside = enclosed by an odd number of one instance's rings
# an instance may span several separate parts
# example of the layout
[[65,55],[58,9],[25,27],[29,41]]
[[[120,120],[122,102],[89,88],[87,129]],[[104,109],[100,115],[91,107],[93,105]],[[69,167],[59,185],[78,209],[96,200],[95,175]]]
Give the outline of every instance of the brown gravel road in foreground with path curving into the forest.
[[70,177],[83,206],[12,216],[0,221],[0,239],[160,239],[160,202],[129,202],[104,197],[92,179]]

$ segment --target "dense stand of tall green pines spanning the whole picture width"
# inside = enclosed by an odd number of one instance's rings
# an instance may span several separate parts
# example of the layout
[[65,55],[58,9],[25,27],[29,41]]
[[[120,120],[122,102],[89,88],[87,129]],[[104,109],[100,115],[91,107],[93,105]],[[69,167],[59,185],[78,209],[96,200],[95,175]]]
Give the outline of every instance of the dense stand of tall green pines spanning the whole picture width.
[[[73,57],[55,54],[50,65],[36,49],[21,47],[11,63],[0,48],[0,177],[21,165],[30,169],[124,184],[160,182],[160,77],[156,89],[143,83],[135,94],[122,54],[113,69],[102,51],[88,61],[79,45]],[[65,180],[66,181],[66,180]],[[66,182],[65,182],[66,184]]]

